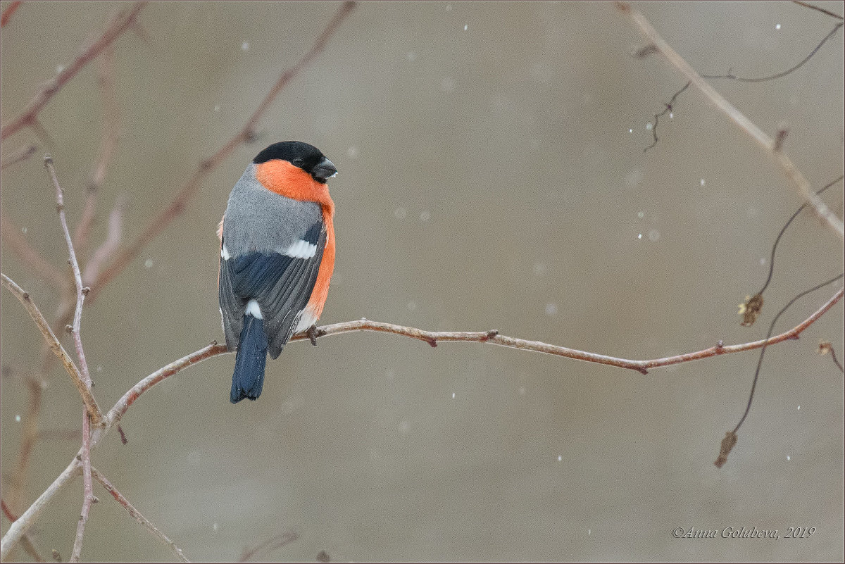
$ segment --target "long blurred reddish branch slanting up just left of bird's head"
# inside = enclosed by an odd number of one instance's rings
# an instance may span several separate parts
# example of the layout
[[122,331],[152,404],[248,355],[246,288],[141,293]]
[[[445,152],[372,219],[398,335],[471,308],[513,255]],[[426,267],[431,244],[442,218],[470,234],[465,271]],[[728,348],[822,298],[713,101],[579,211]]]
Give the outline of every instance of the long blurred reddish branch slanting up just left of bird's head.
[[91,296],[89,298],[90,300],[95,300],[96,297],[99,296],[102,288],[105,287],[115,276],[117,276],[117,274],[123,272],[123,269],[139,255],[141,249],[146,247],[150,241],[161,234],[161,232],[166,229],[167,225],[170,225],[172,220],[175,220],[179,215],[183,214],[188,205],[188,200],[194,197],[194,194],[199,190],[201,182],[217,167],[217,165],[220,165],[226,157],[231,155],[240,144],[248,143],[255,137],[255,127],[258,125],[261,117],[264,116],[264,112],[267,111],[270,104],[273,103],[276,96],[279,95],[281,90],[284,89],[285,86],[289,84],[295,76],[297,76],[297,73],[302,71],[302,69],[305,68],[314,57],[317,57],[319,53],[323,52],[330,37],[335,34],[335,31],[340,27],[343,20],[346,19],[346,16],[349,15],[354,7],[354,2],[345,2],[341,5],[341,8],[338,9],[335,16],[323,30],[323,33],[319,35],[317,41],[314,41],[313,46],[305,53],[303,58],[301,58],[292,68],[289,68],[284,73],[281,73],[281,76],[278,80],[276,80],[275,84],[270,89],[270,92],[264,96],[264,100],[261,101],[253,115],[249,117],[246,125],[214,155],[200,163],[197,170],[194,171],[194,174],[188,179],[188,182],[177,193],[176,197],[173,198],[172,202],[166,207],[166,209],[161,210],[161,212],[150,221],[150,223],[144,228],[144,231],[141,232],[132,244],[124,249],[108,268],[103,270],[102,274],[97,279],[96,285],[92,286]]

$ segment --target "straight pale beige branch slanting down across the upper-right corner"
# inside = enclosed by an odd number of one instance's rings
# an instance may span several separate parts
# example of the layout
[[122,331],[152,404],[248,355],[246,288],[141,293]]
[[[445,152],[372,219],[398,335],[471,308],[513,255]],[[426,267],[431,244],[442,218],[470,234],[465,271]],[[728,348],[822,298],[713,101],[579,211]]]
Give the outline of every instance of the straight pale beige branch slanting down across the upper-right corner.
[[801,194],[801,196],[803,196],[804,199],[813,206],[815,214],[817,214],[822,220],[826,221],[827,225],[830,225],[831,229],[834,230],[840,238],[845,238],[845,226],[842,225],[842,221],[839,220],[836,214],[827,207],[826,203],[815,195],[815,192],[810,187],[810,182],[807,182],[804,175],[802,175],[798,168],[793,164],[793,161],[790,160],[782,150],[777,150],[775,140],[760,129],[760,127],[757,127],[754,122],[751,122],[748,117],[745,117],[741,111],[728,102],[728,100],[719,94],[710,84],[707,84],[706,81],[695,72],[695,69],[690,67],[690,64],[686,62],[683,57],[675,52],[666,41],[663,41],[663,38],[657,33],[657,30],[651,26],[644,15],[637,10],[630,8],[627,4],[618,5],[623,8],[625,12],[630,14],[631,19],[634,20],[635,24],[637,24],[649,41],[657,47],[657,50],[662,53],[663,57],[666,57],[669,62],[681,71],[681,73],[684,73],[687,79],[689,79],[692,84],[695,84],[695,86],[700,89],[701,92],[706,95],[707,98],[709,98],[711,102],[717,106],[717,108],[719,108],[719,110],[721,110],[745,133],[748,133],[771,154],[777,164],[780,165],[783,173],[798,190],[799,194]]

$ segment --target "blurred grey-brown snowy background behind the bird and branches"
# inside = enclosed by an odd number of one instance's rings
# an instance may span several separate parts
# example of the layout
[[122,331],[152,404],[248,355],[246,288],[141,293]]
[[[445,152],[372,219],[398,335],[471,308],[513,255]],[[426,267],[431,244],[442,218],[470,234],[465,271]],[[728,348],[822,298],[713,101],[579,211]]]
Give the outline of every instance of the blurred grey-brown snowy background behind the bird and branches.
[[[842,3],[819,3],[841,12]],[[8,7],[8,3],[2,3]],[[105,29],[122,3],[24,3],[3,28],[3,123]],[[92,245],[127,198],[124,245],[200,161],[253,113],[340,3],[150,3],[116,42],[121,137]],[[700,73],[792,67],[837,20],[792,3],[642,3]],[[653,115],[684,78],[608,3],[362,3],[297,74],[185,214],[85,308],[82,337],[110,407],[135,382],[213,339],[215,228],[248,161],[307,141],[335,162],[338,255],[322,323],[368,317],[480,331],[635,359],[761,339],[799,291],[842,272],[842,241],[810,213],[771,245],[803,200],[777,165],[697,90]],[[842,31],[788,76],[712,81],[818,188],[842,173]],[[41,155],[51,152],[72,226],[101,141],[92,63],[3,159],[3,215],[52,264],[67,251]],[[826,193],[842,216],[842,185]],[[3,245],[3,272],[52,317],[52,286]],[[804,297],[792,328],[841,283]],[[3,323],[3,491],[29,403],[23,376],[41,336],[8,291]],[[757,352],[651,371],[491,345],[356,333],[289,344],[255,403],[229,403],[233,355],[151,389],[95,466],[193,560],[841,561],[842,305],[766,351],[755,403],[728,464],[713,461],[742,415]],[[69,340],[67,341],[69,343]],[[39,424],[79,431],[60,367]],[[79,436],[39,441],[21,512],[61,472]],[[66,559],[81,480],[32,533]],[[99,485],[83,556],[169,560]],[[6,498],[6,493],[3,494]],[[678,540],[673,529],[815,527],[804,540]],[[3,533],[8,521],[3,520]],[[287,536],[286,536],[287,535]],[[295,538],[293,538],[295,537]],[[284,545],[281,540],[293,538]],[[265,543],[262,545],[262,543]],[[23,550],[19,559],[29,559]]]

